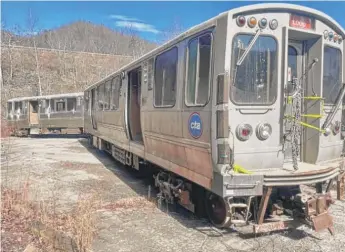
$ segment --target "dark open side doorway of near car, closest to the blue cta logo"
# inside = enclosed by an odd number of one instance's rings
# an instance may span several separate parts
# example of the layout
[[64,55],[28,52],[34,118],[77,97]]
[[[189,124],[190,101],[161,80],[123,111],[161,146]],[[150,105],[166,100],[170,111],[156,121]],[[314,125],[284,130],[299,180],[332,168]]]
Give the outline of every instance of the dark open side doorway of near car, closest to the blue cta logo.
[[127,118],[128,131],[132,141],[144,144],[141,128],[141,67],[128,73]]

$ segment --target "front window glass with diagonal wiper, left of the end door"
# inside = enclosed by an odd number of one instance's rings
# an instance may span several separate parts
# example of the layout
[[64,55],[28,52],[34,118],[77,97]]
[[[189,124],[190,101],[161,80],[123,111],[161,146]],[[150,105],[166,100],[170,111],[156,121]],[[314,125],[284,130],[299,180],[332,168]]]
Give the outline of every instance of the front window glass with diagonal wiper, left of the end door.
[[230,98],[239,105],[270,105],[277,97],[277,42],[260,35],[243,61],[254,34],[238,34],[232,45]]

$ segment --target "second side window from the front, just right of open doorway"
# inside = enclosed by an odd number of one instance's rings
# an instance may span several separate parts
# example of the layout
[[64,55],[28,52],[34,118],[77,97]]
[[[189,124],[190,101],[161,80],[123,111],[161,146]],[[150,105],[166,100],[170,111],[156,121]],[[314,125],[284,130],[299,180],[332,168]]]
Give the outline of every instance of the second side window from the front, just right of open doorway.
[[156,57],[154,105],[173,107],[176,102],[177,47]]

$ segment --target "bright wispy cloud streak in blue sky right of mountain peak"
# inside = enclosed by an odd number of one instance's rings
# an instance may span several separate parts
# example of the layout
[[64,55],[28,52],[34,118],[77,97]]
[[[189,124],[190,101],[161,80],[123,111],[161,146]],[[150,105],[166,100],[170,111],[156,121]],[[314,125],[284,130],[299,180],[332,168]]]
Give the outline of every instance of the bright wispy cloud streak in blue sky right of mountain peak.
[[146,24],[142,20],[128,17],[124,15],[110,15],[112,19],[117,19],[118,21],[115,22],[117,27],[122,28],[130,28],[139,32],[151,32],[151,33],[160,33],[153,25]]

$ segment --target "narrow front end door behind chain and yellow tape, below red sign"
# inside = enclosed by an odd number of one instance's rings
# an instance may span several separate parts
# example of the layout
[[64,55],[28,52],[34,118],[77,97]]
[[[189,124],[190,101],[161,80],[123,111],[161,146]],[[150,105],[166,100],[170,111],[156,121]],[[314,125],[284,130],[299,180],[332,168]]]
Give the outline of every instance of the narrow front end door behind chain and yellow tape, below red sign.
[[[296,92],[296,87],[301,85],[304,88],[302,77],[303,73],[303,43],[300,41],[289,40],[288,43],[288,73],[287,73],[287,86],[285,88],[285,117],[284,120],[284,160],[291,162],[293,155],[298,156],[298,161],[301,161],[301,136],[297,139],[294,137],[294,124],[297,123],[291,120],[298,109],[296,106],[302,106],[302,103],[296,104],[291,102],[290,96]],[[299,126],[299,125],[297,125]]]

